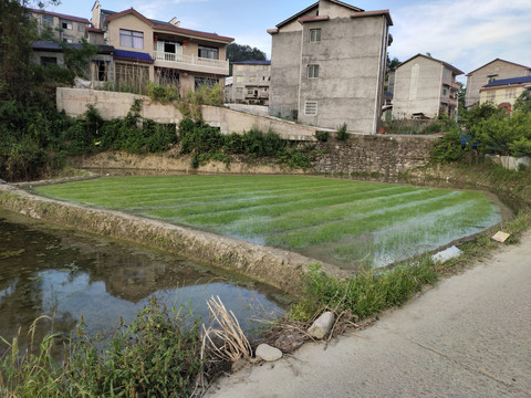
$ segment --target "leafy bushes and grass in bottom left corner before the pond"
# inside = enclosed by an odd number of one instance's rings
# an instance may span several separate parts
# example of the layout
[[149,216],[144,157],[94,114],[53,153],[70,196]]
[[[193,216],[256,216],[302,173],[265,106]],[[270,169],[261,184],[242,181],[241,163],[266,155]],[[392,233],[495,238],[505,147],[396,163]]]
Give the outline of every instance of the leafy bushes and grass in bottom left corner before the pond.
[[54,335],[21,353],[17,338],[0,358],[0,391],[12,397],[189,397],[201,374],[199,323],[184,308],[152,298],[131,326],[122,324],[102,352],[103,338],[83,324],[60,366],[52,357]]

